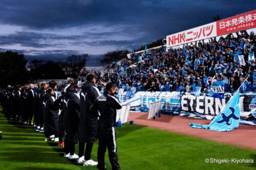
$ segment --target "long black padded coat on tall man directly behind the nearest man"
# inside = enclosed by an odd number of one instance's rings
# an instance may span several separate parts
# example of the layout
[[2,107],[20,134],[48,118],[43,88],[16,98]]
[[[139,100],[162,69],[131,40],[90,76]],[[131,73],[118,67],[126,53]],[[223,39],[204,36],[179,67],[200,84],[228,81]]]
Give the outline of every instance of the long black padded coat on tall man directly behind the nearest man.
[[82,84],[79,125],[79,141],[81,142],[94,142],[97,138],[98,119],[97,116],[95,116],[95,113],[90,111],[90,107],[99,95],[99,90],[94,87],[93,83],[86,81]]

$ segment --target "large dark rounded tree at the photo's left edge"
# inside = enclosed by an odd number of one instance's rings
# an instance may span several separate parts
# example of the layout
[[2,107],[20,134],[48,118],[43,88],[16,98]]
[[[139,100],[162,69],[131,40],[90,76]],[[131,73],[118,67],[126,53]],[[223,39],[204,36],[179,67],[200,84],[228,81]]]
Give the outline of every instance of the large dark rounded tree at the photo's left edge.
[[0,85],[25,84],[28,79],[26,64],[23,54],[11,51],[0,53]]

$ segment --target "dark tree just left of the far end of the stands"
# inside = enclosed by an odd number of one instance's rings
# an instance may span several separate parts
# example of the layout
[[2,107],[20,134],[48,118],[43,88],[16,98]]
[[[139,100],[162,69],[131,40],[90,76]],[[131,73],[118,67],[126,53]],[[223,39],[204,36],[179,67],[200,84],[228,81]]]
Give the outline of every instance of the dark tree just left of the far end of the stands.
[[77,78],[86,71],[86,63],[89,59],[88,54],[72,55],[62,64],[67,76]]

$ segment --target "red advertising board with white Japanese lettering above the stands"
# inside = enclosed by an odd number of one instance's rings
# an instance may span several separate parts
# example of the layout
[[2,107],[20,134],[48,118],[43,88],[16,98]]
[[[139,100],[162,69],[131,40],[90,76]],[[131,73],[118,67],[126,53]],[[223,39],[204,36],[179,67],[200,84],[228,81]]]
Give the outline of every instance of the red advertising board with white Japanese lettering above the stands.
[[256,27],[256,10],[217,21],[217,36]]

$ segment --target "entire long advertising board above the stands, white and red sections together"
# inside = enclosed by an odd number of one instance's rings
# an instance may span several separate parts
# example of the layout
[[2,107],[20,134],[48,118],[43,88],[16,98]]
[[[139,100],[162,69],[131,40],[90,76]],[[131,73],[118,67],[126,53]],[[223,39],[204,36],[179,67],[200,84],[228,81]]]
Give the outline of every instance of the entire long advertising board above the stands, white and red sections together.
[[256,27],[256,10],[166,36],[166,47],[178,46]]

